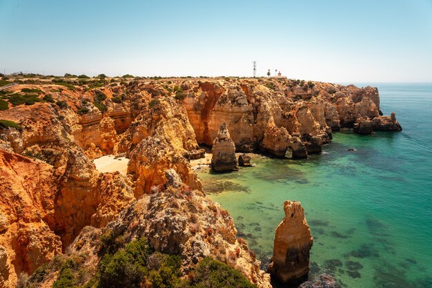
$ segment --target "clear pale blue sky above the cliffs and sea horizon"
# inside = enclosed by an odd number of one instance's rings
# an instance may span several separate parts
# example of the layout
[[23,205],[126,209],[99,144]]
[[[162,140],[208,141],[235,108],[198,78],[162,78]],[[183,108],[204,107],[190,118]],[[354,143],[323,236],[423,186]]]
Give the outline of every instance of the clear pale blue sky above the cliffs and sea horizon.
[[0,0],[0,71],[432,81],[432,0]]

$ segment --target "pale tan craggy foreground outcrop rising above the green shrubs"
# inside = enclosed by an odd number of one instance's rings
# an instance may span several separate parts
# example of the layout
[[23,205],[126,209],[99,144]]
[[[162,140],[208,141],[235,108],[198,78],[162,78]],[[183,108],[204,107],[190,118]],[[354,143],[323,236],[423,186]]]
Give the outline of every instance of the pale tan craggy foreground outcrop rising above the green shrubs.
[[[88,266],[97,266],[99,238],[108,230],[126,243],[144,236],[155,251],[180,254],[184,275],[203,258],[213,257],[238,269],[258,287],[271,288],[270,276],[259,269],[255,253],[244,240],[236,238],[237,230],[228,211],[186,186],[175,189],[165,185],[153,194],[143,195],[105,229],[83,229],[69,251],[86,251]],[[81,244],[78,248],[77,242],[84,242],[84,247]]]

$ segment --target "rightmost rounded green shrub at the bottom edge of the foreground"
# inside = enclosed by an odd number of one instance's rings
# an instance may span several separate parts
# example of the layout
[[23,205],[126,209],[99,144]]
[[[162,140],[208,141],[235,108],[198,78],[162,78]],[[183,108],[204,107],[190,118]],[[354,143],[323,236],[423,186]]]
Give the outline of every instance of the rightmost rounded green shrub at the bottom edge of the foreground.
[[238,270],[225,263],[204,258],[195,269],[191,287],[194,288],[252,288],[257,287]]

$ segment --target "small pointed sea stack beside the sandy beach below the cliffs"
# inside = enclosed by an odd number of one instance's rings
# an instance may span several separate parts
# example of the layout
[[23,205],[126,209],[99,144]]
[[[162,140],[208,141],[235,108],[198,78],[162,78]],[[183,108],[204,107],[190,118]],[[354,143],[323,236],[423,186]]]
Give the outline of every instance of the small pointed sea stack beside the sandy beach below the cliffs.
[[214,171],[237,171],[237,159],[235,158],[235,144],[231,140],[226,123],[222,123],[217,137],[213,140],[211,167]]

